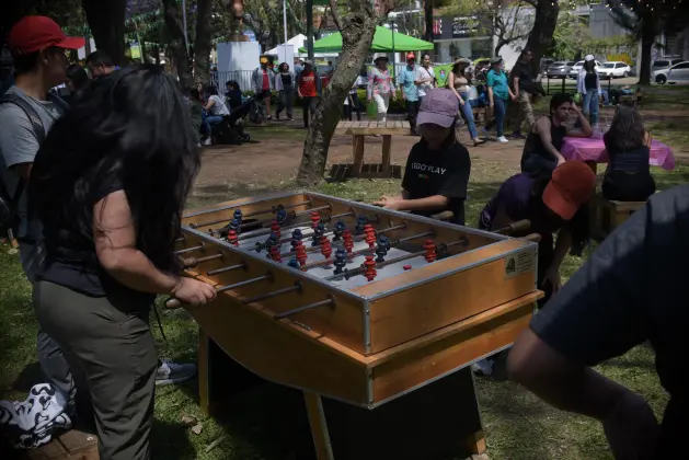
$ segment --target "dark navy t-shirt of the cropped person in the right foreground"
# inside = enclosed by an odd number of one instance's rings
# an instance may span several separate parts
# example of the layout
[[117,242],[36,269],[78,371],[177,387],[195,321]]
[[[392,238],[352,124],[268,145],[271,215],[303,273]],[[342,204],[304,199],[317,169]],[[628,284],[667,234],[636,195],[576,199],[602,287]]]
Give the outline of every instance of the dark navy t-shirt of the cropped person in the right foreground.
[[598,246],[530,326],[567,359],[586,366],[648,341],[670,394],[661,446],[673,453],[685,451],[689,433],[688,235],[689,186],[654,195]]

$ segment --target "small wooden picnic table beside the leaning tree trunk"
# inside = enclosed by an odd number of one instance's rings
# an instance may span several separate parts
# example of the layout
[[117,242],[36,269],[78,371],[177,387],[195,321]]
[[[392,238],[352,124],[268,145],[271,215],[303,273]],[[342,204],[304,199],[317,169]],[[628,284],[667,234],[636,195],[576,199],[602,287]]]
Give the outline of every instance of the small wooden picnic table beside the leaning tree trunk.
[[[407,133],[410,133],[409,122],[340,122],[335,129],[335,134],[352,135],[353,177],[389,177],[392,171],[390,164],[392,135]],[[381,168],[376,168],[372,172],[363,172],[366,136],[375,135],[382,136]]]

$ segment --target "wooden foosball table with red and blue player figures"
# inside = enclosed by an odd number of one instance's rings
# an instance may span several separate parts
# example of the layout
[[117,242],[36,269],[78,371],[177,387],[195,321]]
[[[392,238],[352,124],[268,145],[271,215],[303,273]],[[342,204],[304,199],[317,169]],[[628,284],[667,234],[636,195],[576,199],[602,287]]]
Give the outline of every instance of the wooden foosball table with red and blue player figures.
[[218,291],[183,306],[199,325],[204,410],[227,394],[229,356],[303,392],[319,460],[485,449],[469,366],[508,347],[542,296],[538,244],[501,234],[514,226],[486,232],[317,193],[202,207],[182,223],[185,275]]

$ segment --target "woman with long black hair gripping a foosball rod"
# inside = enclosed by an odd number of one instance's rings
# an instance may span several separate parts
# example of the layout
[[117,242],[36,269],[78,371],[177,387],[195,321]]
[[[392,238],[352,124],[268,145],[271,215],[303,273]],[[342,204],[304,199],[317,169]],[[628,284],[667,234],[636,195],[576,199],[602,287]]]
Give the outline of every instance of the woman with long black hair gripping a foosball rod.
[[30,209],[46,258],[35,309],[85,377],[101,460],[150,458],[156,295],[192,304],[216,296],[177,276],[173,252],[198,168],[187,104],[158,69],[115,71],[56,122],[36,156]]

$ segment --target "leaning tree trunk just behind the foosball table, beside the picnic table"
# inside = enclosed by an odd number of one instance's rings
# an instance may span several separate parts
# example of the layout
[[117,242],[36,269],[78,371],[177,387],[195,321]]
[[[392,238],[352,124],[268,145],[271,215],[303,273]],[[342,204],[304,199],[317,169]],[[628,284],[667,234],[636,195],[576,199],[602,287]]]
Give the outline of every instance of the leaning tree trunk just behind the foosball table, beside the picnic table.
[[342,104],[352,84],[359,74],[364,59],[374,41],[376,16],[368,0],[349,3],[353,11],[343,18],[342,53],[340,64],[311,119],[309,133],[303,142],[303,154],[297,173],[301,186],[314,185],[323,181],[328,149],[342,113]]

